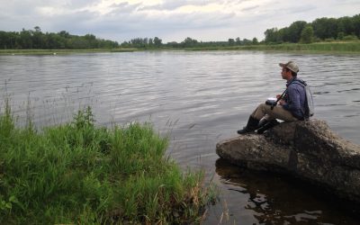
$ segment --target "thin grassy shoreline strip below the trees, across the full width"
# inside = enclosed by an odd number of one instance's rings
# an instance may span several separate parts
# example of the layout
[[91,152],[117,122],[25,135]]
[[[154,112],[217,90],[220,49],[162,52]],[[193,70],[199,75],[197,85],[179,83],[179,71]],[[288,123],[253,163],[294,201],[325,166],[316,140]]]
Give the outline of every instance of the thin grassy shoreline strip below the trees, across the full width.
[[258,50],[274,52],[360,54],[360,41],[315,42],[311,44],[257,44],[239,46],[213,46],[194,48],[149,48],[149,49],[0,49],[0,55],[63,55],[75,53],[133,52],[148,50]]

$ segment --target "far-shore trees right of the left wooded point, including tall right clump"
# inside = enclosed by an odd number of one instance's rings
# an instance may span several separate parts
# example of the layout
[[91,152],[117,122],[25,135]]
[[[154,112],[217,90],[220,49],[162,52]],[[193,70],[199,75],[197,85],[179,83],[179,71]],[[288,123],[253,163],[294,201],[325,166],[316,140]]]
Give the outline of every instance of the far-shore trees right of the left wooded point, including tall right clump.
[[[257,38],[252,40],[241,40],[240,38],[228,41],[198,41],[187,37],[181,42],[167,42],[163,44],[161,40],[154,44],[152,39],[133,39],[121,43],[123,48],[144,48],[151,49],[153,47],[168,48],[201,48],[201,47],[227,47],[241,45],[257,45],[257,44],[273,44],[273,43],[311,43],[323,40],[358,40],[360,39],[360,14],[349,17],[344,16],[336,18],[319,18],[312,23],[297,21],[289,27],[282,29],[272,28],[264,32],[265,40],[258,41]],[[157,38],[156,38],[157,39]]]

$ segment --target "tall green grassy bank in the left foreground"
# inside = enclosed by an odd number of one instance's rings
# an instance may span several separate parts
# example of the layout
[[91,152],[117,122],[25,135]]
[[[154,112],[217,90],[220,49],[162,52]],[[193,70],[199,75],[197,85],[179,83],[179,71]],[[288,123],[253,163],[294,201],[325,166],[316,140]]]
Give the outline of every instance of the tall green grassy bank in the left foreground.
[[213,192],[166,147],[149,124],[97,128],[90,108],[67,124],[16,128],[5,103],[0,224],[198,223]]

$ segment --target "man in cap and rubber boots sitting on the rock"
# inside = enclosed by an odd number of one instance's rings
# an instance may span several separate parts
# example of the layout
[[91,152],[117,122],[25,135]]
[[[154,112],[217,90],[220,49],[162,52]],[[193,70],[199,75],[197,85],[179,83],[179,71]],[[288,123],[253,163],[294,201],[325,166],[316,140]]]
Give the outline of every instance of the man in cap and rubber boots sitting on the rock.
[[[307,100],[302,80],[297,79],[299,72],[298,65],[289,61],[288,63],[280,63],[283,68],[282,76],[286,82],[286,91],[284,94],[276,95],[277,104],[270,105],[261,103],[257,109],[251,113],[247,126],[242,130],[238,130],[238,134],[245,134],[257,130],[262,133],[267,129],[274,127],[278,121],[299,121],[306,117]],[[261,121],[260,121],[261,120]]]

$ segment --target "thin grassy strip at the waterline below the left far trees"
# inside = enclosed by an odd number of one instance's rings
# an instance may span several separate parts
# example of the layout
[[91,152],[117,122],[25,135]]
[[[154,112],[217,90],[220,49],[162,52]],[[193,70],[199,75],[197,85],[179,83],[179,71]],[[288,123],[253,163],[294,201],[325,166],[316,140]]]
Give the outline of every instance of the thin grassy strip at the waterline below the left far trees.
[[137,49],[0,49],[0,55],[64,55],[74,53],[132,52]]

